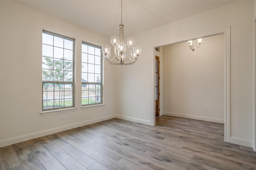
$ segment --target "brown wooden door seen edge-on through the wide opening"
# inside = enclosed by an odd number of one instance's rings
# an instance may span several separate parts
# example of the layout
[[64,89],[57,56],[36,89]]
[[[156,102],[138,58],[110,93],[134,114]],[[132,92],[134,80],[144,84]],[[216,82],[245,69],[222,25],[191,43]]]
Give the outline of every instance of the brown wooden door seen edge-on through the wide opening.
[[159,116],[160,108],[159,108],[159,66],[160,61],[159,57],[156,56],[156,117]]

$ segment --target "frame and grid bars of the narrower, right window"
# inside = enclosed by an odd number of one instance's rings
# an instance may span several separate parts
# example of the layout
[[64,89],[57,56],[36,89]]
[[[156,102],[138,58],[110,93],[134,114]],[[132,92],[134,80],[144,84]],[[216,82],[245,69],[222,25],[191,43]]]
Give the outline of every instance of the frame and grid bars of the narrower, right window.
[[[95,48],[99,48],[100,49],[100,82],[82,82],[82,75],[81,75],[81,95],[82,95],[82,92],[83,92],[83,90],[82,90],[82,86],[83,86],[83,84],[88,84],[88,85],[97,85],[97,84],[100,84],[100,86],[101,86],[101,102],[98,102],[98,103],[92,103],[92,104],[82,104],[82,99],[83,98],[81,98],[81,105],[82,105],[82,107],[88,107],[88,106],[100,106],[100,105],[102,105],[103,104],[103,59],[102,59],[102,47],[101,46],[99,46],[99,45],[94,45],[94,44],[92,44],[92,43],[87,43],[87,42],[85,42],[85,41],[82,41],[82,43],[81,43],[81,47],[82,47],[82,45],[88,45],[88,46],[92,46],[92,47],[94,47],[94,49]],[[82,59],[82,50],[81,50],[81,59]],[[89,53],[86,53],[87,55],[89,54]],[[94,54],[94,56],[95,56],[95,54]],[[96,56],[98,56],[98,55],[96,55]],[[84,62],[82,62],[82,60],[81,60],[81,68],[82,68],[82,63],[84,63]],[[88,63],[88,61],[87,61],[87,64],[90,64],[90,63]],[[94,59],[94,65],[98,65],[98,64],[95,64],[95,59]],[[82,69],[81,69],[81,73],[83,73],[82,72]],[[88,70],[87,70],[87,72],[86,72],[87,74],[88,74]],[[94,72],[94,74],[96,74],[95,72]],[[95,96],[96,97],[96,96]],[[89,97],[88,97],[89,98]]]

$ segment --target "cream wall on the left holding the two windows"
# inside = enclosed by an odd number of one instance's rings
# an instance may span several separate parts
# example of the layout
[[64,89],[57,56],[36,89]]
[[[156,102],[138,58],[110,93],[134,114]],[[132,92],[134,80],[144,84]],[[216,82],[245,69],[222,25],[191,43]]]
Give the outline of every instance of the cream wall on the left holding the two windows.
[[[81,109],[81,42],[110,44],[107,37],[52,18],[12,1],[1,4],[0,144],[63,131],[115,117],[115,67],[104,64],[102,107]],[[75,39],[76,111],[40,115],[42,111],[42,29]],[[64,115],[65,120],[61,120]]]

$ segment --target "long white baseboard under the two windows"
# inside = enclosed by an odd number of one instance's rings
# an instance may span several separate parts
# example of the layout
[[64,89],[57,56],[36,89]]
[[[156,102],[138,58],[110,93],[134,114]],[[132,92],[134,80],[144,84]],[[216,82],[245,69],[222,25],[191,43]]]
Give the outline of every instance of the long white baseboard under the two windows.
[[42,136],[50,135],[50,134],[53,134],[53,133],[66,131],[66,130],[73,129],[73,128],[76,128],[76,127],[81,127],[81,126],[89,125],[89,124],[92,124],[92,123],[97,123],[97,122],[100,122],[100,121],[104,121],[104,120],[107,120],[107,119],[112,119],[112,118],[115,118],[115,117],[116,117],[116,115],[108,115],[108,116],[105,116],[105,117],[90,119],[90,120],[81,121],[81,122],[78,122],[78,123],[72,123],[72,124],[69,124],[69,125],[64,125],[64,126],[55,127],[55,128],[52,128],[52,129],[47,129],[47,130],[44,130],[44,131],[38,131],[38,132],[34,132],[34,133],[29,133],[29,134],[26,134],[26,135],[20,135],[18,137],[12,137],[12,138],[9,138],[9,139],[4,139],[4,140],[0,141],[0,147],[5,147],[5,146],[8,146],[8,145],[12,145],[14,143],[19,143],[19,142],[27,141],[27,140],[34,139],[34,138],[37,138],[37,137],[42,137]]

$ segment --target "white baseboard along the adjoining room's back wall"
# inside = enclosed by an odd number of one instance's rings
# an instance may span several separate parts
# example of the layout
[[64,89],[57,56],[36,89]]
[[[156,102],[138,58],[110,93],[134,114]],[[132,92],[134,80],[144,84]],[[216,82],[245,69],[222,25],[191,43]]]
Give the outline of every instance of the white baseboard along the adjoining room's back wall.
[[174,113],[174,112],[168,112],[168,111],[164,111],[163,114],[168,115],[168,116],[186,117],[186,118],[190,118],[190,119],[198,119],[198,120],[204,120],[204,121],[212,121],[212,122],[216,122],[216,123],[224,123],[224,119],[219,119],[219,118],[214,118],[214,117],[188,115],[188,114]]

